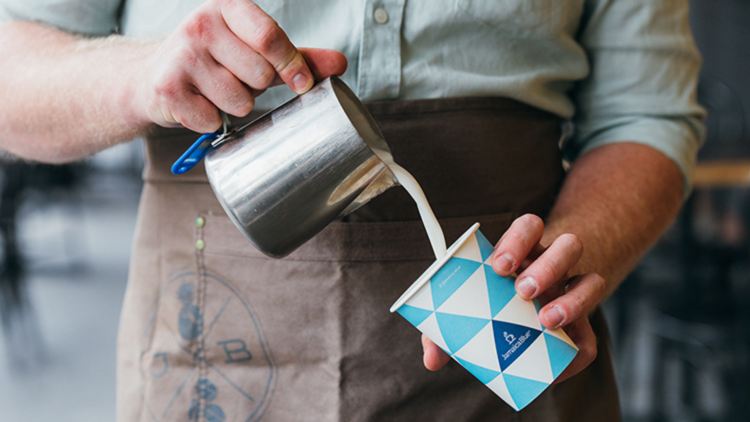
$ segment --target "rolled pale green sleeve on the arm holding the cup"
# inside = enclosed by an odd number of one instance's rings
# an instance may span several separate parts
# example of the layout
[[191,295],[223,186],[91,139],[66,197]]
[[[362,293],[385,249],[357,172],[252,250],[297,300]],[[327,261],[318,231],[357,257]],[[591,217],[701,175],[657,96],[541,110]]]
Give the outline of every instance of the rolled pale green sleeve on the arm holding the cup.
[[649,145],[679,166],[687,196],[705,137],[687,0],[588,1],[579,42],[590,74],[573,92],[565,157],[615,142]]

